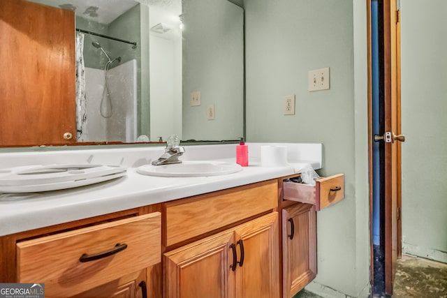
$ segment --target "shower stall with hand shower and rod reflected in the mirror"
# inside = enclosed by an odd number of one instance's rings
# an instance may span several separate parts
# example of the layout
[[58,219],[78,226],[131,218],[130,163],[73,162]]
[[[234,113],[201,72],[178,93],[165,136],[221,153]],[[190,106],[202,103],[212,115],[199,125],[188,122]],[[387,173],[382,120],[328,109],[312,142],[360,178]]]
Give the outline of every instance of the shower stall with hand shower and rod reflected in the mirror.
[[85,121],[78,142],[137,140],[141,40],[139,23],[129,20],[138,15],[140,7],[134,6],[108,24],[76,16],[85,64],[77,70],[84,82],[77,83],[84,101],[77,120]]

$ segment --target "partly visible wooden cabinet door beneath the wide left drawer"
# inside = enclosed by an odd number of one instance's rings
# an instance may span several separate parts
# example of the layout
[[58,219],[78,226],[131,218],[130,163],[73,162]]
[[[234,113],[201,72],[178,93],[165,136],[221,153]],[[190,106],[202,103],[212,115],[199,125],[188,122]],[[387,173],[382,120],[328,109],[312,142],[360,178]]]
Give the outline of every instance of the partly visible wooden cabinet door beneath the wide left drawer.
[[143,298],[147,297],[143,295],[146,292],[146,269],[128,274],[116,281],[105,283],[96,288],[82,292],[79,295],[75,295],[71,298]]

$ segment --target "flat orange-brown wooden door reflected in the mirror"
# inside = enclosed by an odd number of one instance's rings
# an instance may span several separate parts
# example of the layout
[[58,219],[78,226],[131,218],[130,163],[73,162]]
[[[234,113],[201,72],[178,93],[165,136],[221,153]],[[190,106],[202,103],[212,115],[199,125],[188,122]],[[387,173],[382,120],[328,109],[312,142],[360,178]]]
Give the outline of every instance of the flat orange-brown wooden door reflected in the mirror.
[[0,147],[75,142],[74,12],[1,0],[0,45]]

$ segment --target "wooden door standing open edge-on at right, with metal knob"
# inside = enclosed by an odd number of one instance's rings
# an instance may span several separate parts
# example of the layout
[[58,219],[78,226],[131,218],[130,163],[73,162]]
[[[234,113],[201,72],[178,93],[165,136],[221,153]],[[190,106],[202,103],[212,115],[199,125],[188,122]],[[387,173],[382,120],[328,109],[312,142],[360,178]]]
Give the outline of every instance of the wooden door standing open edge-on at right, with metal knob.
[[[400,25],[396,0],[383,1],[383,65],[385,131],[385,291],[393,294],[395,265],[400,253]],[[386,138],[385,138],[386,139]]]

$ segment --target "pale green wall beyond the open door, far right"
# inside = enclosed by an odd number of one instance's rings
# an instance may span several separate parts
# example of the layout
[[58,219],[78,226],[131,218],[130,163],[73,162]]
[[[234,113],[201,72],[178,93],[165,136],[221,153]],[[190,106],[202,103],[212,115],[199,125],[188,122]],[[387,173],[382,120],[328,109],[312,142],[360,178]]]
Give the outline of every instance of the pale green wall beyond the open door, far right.
[[447,2],[401,10],[402,251],[447,262]]

